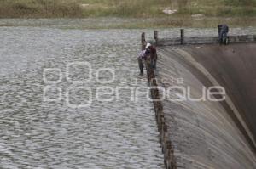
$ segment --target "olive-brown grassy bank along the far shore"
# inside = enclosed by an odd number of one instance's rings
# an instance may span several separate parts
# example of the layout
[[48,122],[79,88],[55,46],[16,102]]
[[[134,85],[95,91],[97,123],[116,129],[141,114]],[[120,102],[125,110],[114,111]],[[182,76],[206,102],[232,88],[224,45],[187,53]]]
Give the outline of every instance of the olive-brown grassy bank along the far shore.
[[[85,5],[83,5],[85,4]],[[256,0],[0,0],[0,18],[255,16]]]

